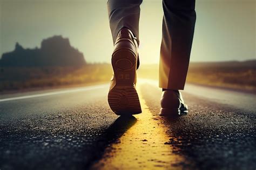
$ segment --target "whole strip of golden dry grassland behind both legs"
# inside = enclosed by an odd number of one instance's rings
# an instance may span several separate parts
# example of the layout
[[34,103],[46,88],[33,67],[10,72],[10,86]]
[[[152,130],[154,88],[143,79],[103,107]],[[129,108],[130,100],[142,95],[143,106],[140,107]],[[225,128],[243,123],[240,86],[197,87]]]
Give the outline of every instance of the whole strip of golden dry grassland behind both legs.
[[[37,87],[82,86],[110,80],[110,64],[83,67],[0,68],[0,91]],[[139,78],[158,79],[158,65],[140,65]],[[191,63],[187,83],[256,92],[256,60],[248,62]]]

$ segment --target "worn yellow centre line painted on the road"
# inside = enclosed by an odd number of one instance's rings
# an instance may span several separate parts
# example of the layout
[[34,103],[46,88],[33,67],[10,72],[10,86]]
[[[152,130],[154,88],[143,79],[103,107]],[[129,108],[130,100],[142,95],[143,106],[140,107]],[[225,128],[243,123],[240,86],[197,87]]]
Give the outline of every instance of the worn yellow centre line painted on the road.
[[102,159],[92,169],[180,169],[173,165],[184,159],[172,153],[174,148],[171,145],[164,144],[169,137],[164,126],[153,119],[140,88],[138,94],[142,113],[134,115],[136,124],[120,137],[119,142],[112,144],[111,149],[106,149]]

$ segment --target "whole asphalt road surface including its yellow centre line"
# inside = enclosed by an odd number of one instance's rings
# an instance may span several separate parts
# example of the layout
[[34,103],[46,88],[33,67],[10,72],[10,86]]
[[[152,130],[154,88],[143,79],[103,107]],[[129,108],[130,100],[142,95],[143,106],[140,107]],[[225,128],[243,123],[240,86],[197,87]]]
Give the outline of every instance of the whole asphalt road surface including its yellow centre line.
[[122,118],[108,87],[2,95],[0,169],[256,168],[255,94],[187,84],[189,114],[167,119],[156,81],[139,80],[143,113]]

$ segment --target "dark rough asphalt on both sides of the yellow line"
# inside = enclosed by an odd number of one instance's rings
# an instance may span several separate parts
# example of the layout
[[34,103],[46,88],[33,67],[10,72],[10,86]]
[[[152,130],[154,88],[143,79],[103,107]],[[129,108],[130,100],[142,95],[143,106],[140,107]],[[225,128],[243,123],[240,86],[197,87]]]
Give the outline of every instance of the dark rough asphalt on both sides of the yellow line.
[[[88,169],[136,121],[118,118],[108,88],[0,103],[0,169]],[[36,92],[35,92],[36,93]],[[161,118],[161,91],[142,88],[154,120],[190,165],[183,169],[255,169],[255,114],[183,93],[189,114]],[[15,95],[15,94],[13,94]],[[246,94],[245,94],[246,95]],[[253,102],[253,101],[252,101]],[[255,101],[254,101],[255,102]],[[171,166],[170,166],[171,168]]]

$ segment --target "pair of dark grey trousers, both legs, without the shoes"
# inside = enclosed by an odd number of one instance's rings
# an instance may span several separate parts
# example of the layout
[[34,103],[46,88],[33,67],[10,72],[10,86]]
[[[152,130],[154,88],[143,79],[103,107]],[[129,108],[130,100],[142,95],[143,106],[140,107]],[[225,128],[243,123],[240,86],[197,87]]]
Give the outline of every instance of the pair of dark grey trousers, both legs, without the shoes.
[[[107,1],[113,43],[122,28],[130,29],[139,40],[141,3],[142,0]],[[159,87],[163,89],[184,89],[196,22],[194,8],[195,0],[163,0],[159,63]]]

